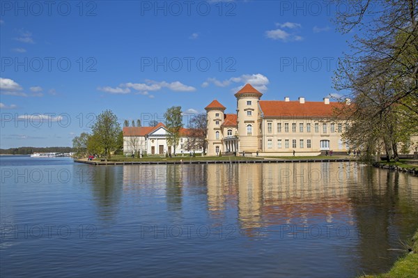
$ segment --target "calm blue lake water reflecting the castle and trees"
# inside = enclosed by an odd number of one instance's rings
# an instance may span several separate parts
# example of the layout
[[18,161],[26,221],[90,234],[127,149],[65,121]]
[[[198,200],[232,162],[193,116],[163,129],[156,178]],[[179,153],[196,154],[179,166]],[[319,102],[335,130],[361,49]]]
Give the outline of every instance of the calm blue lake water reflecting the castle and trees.
[[418,178],[355,163],[0,162],[2,278],[355,277],[418,226]]

